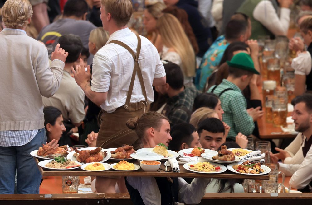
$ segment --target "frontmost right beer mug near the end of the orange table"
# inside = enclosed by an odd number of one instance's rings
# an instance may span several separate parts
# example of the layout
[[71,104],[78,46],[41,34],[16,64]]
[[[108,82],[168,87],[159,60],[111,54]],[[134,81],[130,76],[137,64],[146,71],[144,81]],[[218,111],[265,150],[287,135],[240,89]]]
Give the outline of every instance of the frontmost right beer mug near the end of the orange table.
[[274,127],[286,127],[287,118],[287,100],[285,98],[276,97],[273,100],[272,106],[273,112],[273,126]]

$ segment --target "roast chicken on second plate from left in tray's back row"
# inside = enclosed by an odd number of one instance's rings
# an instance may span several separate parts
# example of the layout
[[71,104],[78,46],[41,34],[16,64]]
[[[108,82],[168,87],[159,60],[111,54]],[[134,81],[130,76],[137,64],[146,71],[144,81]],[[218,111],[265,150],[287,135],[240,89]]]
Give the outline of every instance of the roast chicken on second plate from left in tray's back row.
[[99,162],[107,155],[107,151],[102,151],[102,147],[98,147],[94,150],[75,150],[74,156],[77,161],[83,163]]

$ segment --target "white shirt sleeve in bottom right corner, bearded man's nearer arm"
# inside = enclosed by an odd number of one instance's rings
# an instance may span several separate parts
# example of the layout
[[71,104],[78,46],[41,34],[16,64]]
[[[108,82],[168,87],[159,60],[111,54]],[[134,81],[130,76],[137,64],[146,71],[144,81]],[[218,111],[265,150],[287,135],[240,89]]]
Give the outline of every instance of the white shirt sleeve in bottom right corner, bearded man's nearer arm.
[[312,179],[312,149],[308,151],[305,159],[299,165],[298,170],[292,175],[289,185],[295,189],[302,189],[307,186]]

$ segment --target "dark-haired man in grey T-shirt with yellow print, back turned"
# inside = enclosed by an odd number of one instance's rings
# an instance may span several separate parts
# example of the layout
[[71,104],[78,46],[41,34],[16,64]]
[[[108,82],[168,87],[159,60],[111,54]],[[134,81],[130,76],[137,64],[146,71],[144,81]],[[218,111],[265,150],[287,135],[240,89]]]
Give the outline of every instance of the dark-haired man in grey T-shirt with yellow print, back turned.
[[[63,18],[44,27],[39,35],[41,40],[48,49],[49,58],[54,50],[59,38],[62,35],[78,35],[85,48],[88,48],[89,35],[91,30],[96,27],[86,21],[88,4],[85,0],[68,0],[64,6]],[[93,55],[88,58],[88,64],[92,63]]]

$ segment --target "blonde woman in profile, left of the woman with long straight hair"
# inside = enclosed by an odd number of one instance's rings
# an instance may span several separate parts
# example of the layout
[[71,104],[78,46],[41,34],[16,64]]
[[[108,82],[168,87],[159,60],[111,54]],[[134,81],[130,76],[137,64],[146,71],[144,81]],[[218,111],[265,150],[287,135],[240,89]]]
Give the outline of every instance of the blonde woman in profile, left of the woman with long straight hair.
[[157,48],[158,52],[160,52],[163,48],[163,43],[161,41],[160,35],[156,32],[156,22],[157,19],[160,18],[163,13],[162,10],[166,8],[166,5],[162,2],[157,2],[155,4],[147,5],[144,10],[144,27],[147,33],[151,36],[149,40],[154,44]]

